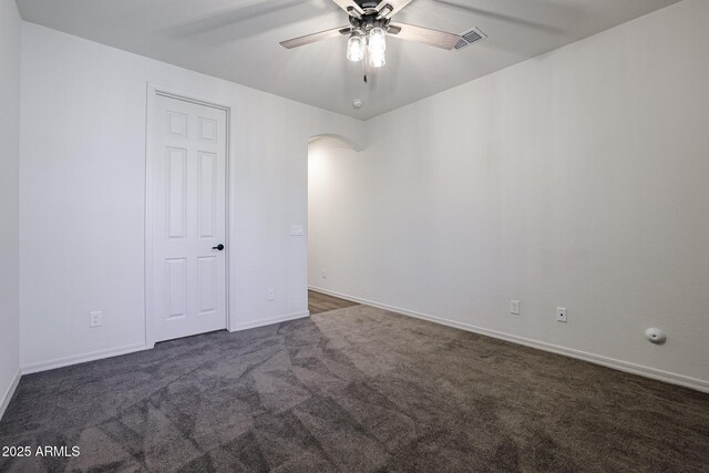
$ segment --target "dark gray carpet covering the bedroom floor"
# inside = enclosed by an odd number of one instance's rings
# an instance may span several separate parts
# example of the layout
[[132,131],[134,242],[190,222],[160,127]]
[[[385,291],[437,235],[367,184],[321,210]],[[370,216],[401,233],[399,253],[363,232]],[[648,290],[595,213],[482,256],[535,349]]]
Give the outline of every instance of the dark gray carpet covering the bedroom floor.
[[709,395],[357,306],[22,378],[0,471],[709,471]]

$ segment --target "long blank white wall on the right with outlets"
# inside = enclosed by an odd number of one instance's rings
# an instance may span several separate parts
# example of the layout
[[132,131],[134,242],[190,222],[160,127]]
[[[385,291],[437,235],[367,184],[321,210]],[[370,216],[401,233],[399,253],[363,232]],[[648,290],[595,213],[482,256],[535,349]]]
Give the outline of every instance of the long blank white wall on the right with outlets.
[[709,389],[708,18],[686,0],[316,152],[310,284]]

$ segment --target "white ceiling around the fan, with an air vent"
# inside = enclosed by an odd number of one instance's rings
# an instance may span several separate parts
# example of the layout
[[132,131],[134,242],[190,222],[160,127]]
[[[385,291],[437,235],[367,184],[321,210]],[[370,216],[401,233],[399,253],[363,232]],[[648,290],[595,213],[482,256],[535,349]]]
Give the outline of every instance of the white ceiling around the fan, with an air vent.
[[[347,24],[331,0],[17,0],[22,18],[70,34],[369,119],[679,0],[413,0],[394,21],[487,39],[461,51],[388,41],[364,84],[346,38],[278,42]],[[454,7],[452,4],[462,6]],[[391,38],[391,37],[390,37]],[[352,100],[364,105],[354,110]]]

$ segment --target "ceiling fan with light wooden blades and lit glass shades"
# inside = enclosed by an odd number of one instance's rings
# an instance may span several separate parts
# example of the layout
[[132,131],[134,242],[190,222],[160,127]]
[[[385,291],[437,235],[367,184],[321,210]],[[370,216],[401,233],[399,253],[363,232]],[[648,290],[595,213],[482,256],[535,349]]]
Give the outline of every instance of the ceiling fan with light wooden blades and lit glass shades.
[[[381,68],[387,63],[387,34],[405,41],[415,41],[432,47],[452,50],[460,34],[446,33],[405,23],[394,23],[392,17],[412,0],[332,0],[349,16],[349,25],[320,31],[281,41],[280,45],[292,49],[301,45],[349,35],[347,59],[359,62],[366,59],[366,68]],[[364,75],[367,82],[367,75]]]

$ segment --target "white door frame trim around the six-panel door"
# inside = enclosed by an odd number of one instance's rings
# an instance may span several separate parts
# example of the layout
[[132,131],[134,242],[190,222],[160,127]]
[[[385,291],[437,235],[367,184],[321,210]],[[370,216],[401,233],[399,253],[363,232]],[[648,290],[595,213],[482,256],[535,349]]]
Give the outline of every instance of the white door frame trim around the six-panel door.
[[197,105],[209,106],[213,109],[222,110],[226,112],[226,150],[225,150],[225,255],[226,265],[225,265],[225,297],[226,297],[226,307],[225,315],[226,317],[226,329],[230,331],[232,318],[229,317],[229,255],[230,255],[230,239],[229,239],[229,195],[230,195],[230,175],[229,175],[229,162],[232,161],[232,107],[228,105],[222,105],[216,101],[210,99],[195,96],[193,94],[187,94],[181,91],[171,90],[168,88],[164,88],[162,85],[148,82],[147,83],[147,100],[146,100],[146,114],[145,114],[145,267],[144,267],[144,278],[145,278],[145,348],[155,347],[155,313],[153,313],[153,160],[154,160],[154,145],[153,145],[153,136],[151,135],[151,131],[157,124],[157,116],[155,116],[155,107],[157,105],[157,97],[164,96],[168,99],[179,100],[183,102],[194,103]]

